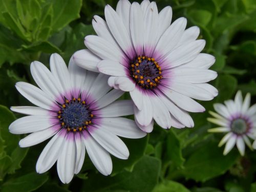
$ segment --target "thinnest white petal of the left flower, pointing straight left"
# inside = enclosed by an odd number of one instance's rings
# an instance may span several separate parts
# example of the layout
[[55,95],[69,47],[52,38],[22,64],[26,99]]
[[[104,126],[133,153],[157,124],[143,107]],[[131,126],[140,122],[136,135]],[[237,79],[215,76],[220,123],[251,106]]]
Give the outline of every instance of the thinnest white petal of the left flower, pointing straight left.
[[11,110],[25,115],[51,115],[51,111],[38,106],[11,106]]

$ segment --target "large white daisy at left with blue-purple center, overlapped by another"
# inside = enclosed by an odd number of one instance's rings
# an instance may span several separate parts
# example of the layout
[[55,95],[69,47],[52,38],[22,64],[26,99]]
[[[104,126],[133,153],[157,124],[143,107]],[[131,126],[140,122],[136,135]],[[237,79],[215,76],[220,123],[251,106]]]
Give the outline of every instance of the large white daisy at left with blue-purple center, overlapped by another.
[[133,114],[131,100],[117,100],[123,92],[108,86],[108,77],[86,71],[70,60],[67,68],[58,54],[50,58],[51,72],[42,63],[31,63],[32,76],[39,88],[17,82],[20,94],[37,106],[13,106],[12,111],[29,116],[15,120],[9,130],[28,134],[19,141],[20,147],[38,144],[53,138],[36,163],[36,171],[45,173],[57,161],[63,183],[78,174],[87,153],[103,175],[112,172],[110,154],[127,159],[129,151],[117,137],[145,136],[133,120],[119,116]]

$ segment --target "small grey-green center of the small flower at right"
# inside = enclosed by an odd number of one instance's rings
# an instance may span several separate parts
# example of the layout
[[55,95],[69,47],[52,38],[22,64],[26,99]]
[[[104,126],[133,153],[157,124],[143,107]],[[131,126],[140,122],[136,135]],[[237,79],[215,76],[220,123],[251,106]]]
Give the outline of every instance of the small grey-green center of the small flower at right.
[[243,118],[233,119],[230,125],[231,131],[237,135],[245,134],[249,128],[249,123]]

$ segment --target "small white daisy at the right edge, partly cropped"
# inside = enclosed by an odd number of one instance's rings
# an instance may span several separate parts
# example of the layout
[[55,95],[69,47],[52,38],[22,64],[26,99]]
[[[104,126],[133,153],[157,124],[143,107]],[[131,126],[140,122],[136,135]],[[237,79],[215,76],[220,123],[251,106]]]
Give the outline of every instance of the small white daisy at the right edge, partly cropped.
[[215,118],[207,118],[208,121],[220,127],[210,129],[208,132],[227,133],[219,143],[222,146],[226,143],[223,154],[227,155],[236,144],[242,156],[245,153],[245,143],[252,149],[249,138],[256,139],[256,105],[250,107],[250,94],[247,93],[243,101],[241,91],[238,91],[234,100],[224,101],[224,104],[214,104],[218,113],[209,112]]

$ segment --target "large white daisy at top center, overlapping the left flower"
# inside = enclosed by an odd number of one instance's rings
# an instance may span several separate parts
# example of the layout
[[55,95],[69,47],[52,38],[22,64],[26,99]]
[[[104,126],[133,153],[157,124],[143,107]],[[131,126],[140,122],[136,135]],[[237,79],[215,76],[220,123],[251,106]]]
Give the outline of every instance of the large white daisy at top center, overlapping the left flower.
[[184,17],[172,20],[172,8],[158,13],[155,2],[131,4],[120,0],[116,11],[105,7],[105,20],[94,16],[97,35],[84,43],[89,50],[74,54],[82,68],[111,77],[109,85],[130,92],[135,121],[152,132],[153,119],[164,129],[193,127],[187,112],[204,112],[198,100],[211,100],[218,91],[206,82],[217,73],[208,70],[215,57],[200,53],[205,40],[197,40],[198,27],[185,30]]

